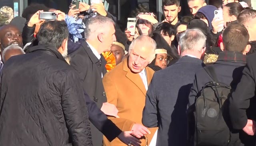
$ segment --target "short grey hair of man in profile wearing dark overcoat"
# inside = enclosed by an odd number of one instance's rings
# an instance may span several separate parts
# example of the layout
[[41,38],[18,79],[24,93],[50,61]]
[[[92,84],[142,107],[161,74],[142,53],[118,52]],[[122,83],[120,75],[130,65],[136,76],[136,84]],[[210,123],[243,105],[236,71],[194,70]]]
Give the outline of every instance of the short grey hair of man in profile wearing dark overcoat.
[[92,35],[98,35],[98,33],[108,30],[109,24],[115,25],[115,22],[112,19],[107,18],[105,16],[92,16],[85,23],[85,39],[88,40]]

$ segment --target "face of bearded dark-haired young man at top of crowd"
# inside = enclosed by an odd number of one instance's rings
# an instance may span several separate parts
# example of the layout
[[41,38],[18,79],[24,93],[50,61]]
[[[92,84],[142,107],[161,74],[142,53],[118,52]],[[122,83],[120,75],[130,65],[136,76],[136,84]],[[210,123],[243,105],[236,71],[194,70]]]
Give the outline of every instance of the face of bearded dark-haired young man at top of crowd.
[[172,21],[178,18],[178,13],[180,12],[180,10],[181,10],[180,6],[177,6],[176,4],[171,6],[163,6],[163,12],[164,12],[164,17],[166,21],[168,21],[169,23],[172,23]]

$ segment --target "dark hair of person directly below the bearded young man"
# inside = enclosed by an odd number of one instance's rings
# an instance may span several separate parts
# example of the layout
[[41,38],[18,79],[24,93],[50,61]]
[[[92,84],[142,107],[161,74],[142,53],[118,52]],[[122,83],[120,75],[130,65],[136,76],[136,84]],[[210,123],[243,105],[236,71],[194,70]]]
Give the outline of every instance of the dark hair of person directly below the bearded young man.
[[173,25],[171,25],[170,23],[168,22],[163,22],[163,23],[160,23],[157,27],[156,27],[156,30],[155,31],[158,31],[159,33],[162,33],[164,35],[167,35],[169,37],[171,37],[172,35],[176,35],[176,30],[174,28]]

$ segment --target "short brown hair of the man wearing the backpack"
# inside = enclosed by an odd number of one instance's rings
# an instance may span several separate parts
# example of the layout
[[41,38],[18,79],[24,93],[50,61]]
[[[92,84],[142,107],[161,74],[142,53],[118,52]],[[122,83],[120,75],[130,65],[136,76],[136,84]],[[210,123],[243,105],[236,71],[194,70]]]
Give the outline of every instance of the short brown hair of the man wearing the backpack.
[[249,42],[247,29],[238,23],[232,23],[223,31],[224,49],[228,51],[243,52]]

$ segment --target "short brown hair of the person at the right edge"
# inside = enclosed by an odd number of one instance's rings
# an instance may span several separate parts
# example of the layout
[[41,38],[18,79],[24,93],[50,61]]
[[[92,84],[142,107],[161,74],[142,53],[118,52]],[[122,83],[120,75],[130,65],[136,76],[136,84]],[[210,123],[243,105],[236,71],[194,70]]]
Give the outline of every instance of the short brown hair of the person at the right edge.
[[256,18],[256,10],[246,9],[243,10],[237,17],[237,21],[240,24],[250,21],[251,19]]

